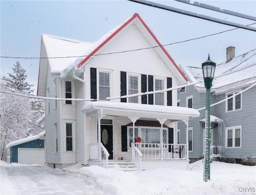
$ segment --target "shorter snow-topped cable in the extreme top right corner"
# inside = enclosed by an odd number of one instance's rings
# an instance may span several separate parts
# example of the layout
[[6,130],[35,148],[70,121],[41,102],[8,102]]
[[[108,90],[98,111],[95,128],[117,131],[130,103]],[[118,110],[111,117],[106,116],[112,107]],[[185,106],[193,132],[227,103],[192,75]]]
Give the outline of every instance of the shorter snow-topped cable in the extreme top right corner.
[[220,13],[223,13],[223,14],[228,14],[228,15],[231,15],[231,16],[236,16],[236,17],[239,17],[239,18],[245,18],[245,19],[248,19],[248,20],[256,21],[256,17],[254,17],[254,16],[249,16],[249,15],[246,15],[246,14],[241,14],[241,13],[233,12],[233,11],[230,11],[230,10],[222,10],[218,7],[210,6],[210,5],[199,3],[199,2],[194,2],[192,4],[192,3],[190,3],[190,0],[174,0],[174,1],[186,3],[186,4],[189,4],[189,5],[192,5],[192,6],[197,6],[197,7],[200,7],[200,8],[205,8],[205,9],[212,10],[212,11],[215,11],[215,12],[220,12]]

